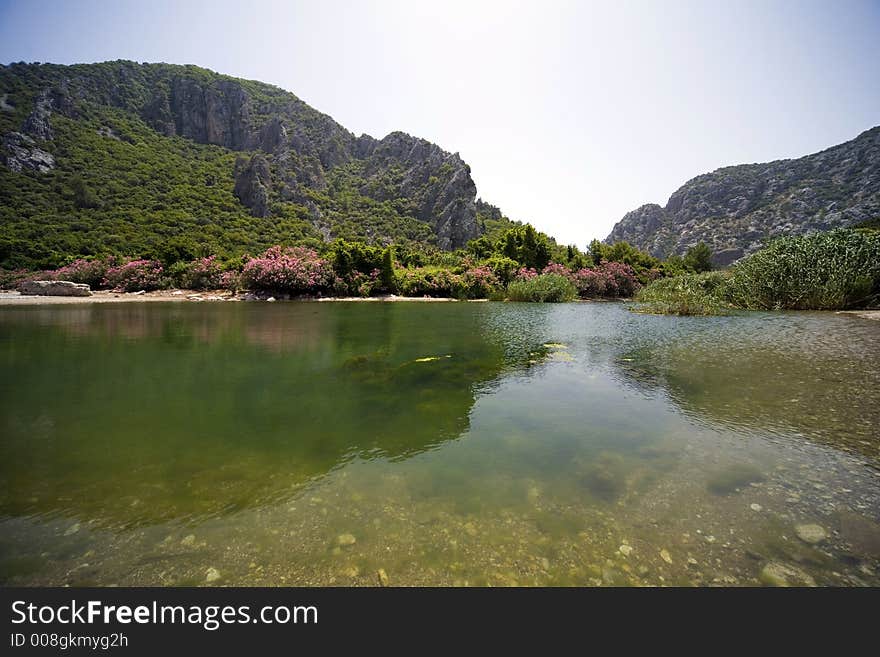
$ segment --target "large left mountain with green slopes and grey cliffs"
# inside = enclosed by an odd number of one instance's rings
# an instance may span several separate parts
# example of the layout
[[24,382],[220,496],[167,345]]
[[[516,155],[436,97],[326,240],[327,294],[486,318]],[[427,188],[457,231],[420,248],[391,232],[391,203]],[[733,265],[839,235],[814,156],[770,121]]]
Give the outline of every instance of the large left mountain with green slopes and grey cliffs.
[[458,154],[195,66],[0,65],[0,162],[6,267],[336,237],[450,250],[485,230]]

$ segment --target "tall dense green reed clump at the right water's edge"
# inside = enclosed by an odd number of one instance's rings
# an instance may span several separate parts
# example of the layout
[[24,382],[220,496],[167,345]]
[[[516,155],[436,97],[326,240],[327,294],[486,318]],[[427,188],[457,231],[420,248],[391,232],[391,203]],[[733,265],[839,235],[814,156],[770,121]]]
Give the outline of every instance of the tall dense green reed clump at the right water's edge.
[[848,229],[783,237],[740,261],[726,298],[753,309],[835,310],[880,299],[880,235]]

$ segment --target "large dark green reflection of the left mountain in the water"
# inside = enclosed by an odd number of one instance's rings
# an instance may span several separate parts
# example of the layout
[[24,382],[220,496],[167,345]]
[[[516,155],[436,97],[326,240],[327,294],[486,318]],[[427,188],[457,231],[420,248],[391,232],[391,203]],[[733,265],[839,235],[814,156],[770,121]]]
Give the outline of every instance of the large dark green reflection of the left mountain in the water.
[[0,513],[221,514],[454,439],[505,356],[478,306],[431,306],[6,311]]

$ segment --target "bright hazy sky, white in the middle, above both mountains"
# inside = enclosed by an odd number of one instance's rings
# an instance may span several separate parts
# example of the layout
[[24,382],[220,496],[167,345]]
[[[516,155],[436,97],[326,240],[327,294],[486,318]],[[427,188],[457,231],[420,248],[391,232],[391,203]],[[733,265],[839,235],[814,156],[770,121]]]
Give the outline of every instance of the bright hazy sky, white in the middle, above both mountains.
[[353,132],[458,151],[480,196],[584,246],[719,166],[880,124],[880,0],[0,0],[0,62],[198,64]]

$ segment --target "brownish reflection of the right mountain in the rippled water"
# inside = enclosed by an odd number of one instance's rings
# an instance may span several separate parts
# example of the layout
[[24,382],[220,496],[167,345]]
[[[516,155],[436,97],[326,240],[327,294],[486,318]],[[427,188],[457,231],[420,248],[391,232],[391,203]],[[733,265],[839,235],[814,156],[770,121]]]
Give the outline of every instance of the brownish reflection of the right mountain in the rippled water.
[[663,389],[700,420],[878,459],[878,339],[876,323],[830,313],[755,314],[622,352],[614,366],[628,385]]

